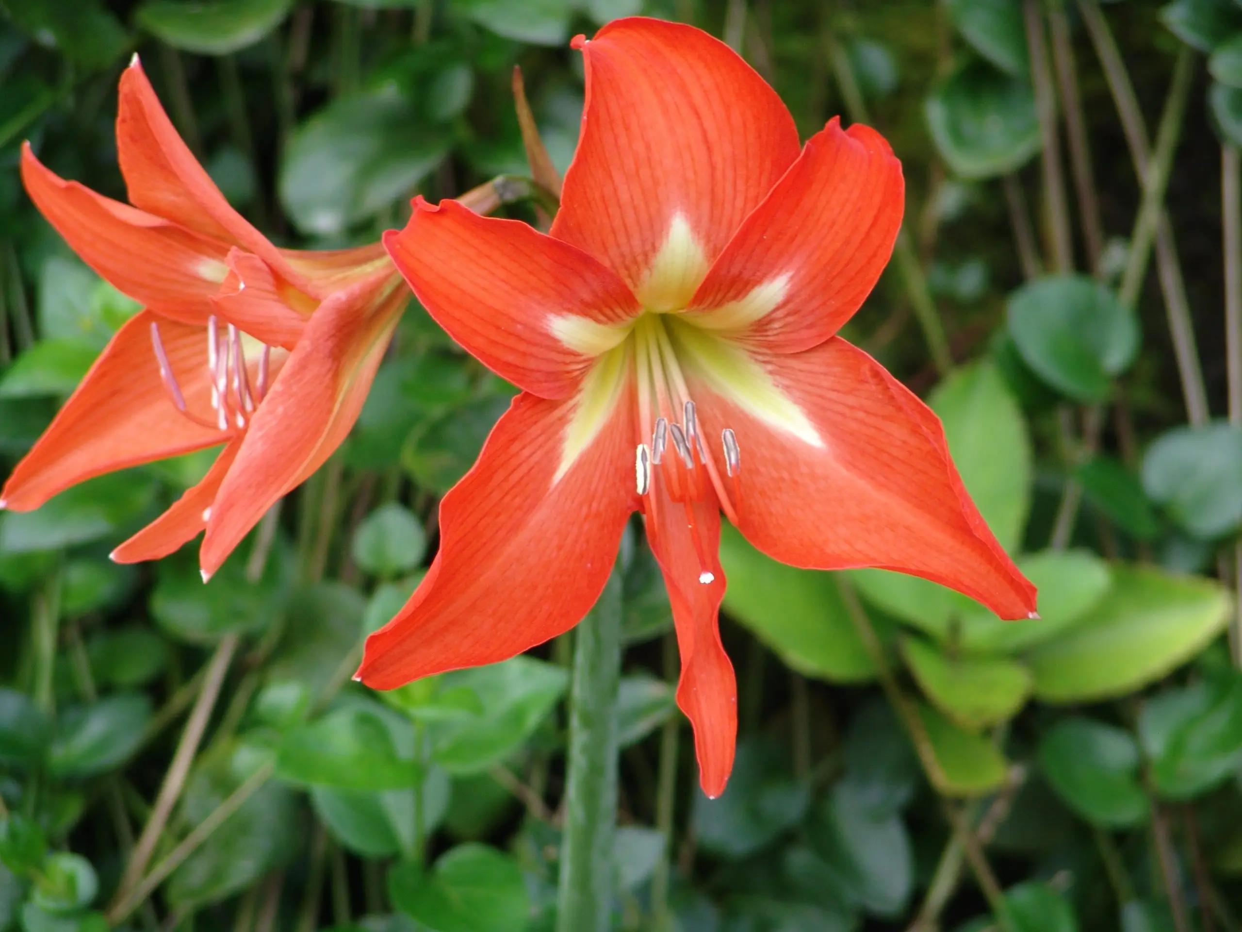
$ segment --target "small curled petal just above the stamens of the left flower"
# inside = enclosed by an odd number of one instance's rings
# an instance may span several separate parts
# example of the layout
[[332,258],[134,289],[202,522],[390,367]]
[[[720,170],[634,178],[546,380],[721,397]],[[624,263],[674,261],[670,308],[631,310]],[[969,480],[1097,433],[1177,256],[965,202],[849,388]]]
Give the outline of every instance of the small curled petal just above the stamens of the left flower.
[[[216,312],[240,331],[270,347],[293,349],[315,302],[277,278],[258,256],[229,251],[229,275],[211,298]],[[294,304],[306,304],[298,313]]]

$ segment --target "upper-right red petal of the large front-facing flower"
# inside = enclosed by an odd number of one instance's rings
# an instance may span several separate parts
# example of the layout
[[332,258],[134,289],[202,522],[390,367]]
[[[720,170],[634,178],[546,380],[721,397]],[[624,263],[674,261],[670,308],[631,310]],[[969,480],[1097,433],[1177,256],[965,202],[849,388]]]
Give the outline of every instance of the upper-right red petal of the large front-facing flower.
[[692,313],[777,353],[822,343],[879,280],[904,206],[902,163],[884,138],[833,118],[725,246]]

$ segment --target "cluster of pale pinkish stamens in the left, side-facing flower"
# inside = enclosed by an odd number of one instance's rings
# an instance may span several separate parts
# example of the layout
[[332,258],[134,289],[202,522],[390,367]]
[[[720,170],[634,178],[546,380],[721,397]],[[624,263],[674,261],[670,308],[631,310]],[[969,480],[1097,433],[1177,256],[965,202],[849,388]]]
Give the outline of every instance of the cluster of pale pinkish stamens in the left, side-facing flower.
[[[159,365],[160,380],[173,406],[184,416],[209,430],[243,430],[267,395],[271,379],[272,348],[233,324],[220,327],[215,314],[207,318],[206,381],[211,393],[210,418],[190,410],[178,383],[173,364],[160,337],[159,323],[152,321],[152,349]],[[253,368],[253,375],[251,369]]]

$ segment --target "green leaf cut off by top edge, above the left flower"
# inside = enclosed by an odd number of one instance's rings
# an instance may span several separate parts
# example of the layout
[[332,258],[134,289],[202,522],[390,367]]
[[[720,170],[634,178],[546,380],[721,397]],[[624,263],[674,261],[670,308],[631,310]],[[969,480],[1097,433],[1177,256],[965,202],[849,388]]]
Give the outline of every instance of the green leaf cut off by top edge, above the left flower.
[[174,48],[231,55],[281,25],[293,0],[148,0],[134,20]]

